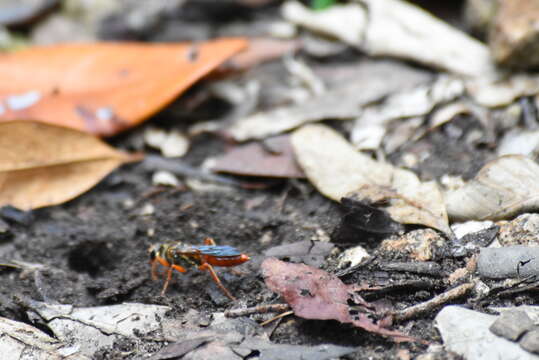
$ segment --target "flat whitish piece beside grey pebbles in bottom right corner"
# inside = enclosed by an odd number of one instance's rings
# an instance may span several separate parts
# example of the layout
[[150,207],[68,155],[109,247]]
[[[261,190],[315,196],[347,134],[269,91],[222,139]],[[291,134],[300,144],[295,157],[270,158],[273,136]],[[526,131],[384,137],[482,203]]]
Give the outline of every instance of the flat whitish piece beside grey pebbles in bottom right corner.
[[445,348],[456,352],[464,359],[537,359],[517,343],[489,331],[489,327],[496,321],[494,315],[450,305],[436,315],[435,321]]

